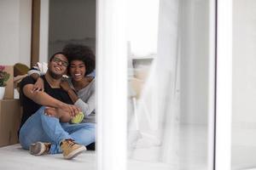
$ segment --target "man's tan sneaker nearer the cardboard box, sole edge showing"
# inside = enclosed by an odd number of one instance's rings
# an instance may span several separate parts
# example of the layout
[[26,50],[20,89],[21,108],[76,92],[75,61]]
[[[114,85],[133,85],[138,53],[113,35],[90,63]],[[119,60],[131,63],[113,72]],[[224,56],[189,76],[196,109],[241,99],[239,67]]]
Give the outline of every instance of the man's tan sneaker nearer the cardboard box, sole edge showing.
[[41,156],[43,154],[49,154],[50,143],[37,142],[35,144],[30,144],[29,152],[33,156]]

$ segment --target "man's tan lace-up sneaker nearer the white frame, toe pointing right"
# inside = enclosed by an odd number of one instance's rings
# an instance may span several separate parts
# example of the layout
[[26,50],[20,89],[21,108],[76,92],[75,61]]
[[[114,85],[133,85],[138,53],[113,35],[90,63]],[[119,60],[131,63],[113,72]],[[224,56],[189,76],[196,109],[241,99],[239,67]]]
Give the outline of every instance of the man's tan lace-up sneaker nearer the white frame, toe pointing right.
[[61,142],[61,150],[65,159],[73,159],[73,157],[85,151],[86,147],[75,143],[73,139],[66,139]]

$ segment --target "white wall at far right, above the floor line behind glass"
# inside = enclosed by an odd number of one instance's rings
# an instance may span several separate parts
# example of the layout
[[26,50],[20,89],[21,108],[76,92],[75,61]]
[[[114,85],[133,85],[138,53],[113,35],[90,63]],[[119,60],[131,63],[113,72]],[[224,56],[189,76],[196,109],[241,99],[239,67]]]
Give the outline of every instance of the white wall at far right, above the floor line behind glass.
[[256,127],[256,1],[233,8],[233,122]]

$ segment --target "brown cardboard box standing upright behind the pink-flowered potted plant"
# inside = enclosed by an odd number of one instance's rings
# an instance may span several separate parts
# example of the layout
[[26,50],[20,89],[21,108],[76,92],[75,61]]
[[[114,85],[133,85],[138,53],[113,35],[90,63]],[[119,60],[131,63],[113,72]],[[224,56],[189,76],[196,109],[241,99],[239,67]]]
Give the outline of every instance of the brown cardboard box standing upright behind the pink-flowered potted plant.
[[9,73],[9,80],[6,82],[5,92],[3,99],[14,99],[15,88],[14,88],[14,66],[4,65],[4,71]]

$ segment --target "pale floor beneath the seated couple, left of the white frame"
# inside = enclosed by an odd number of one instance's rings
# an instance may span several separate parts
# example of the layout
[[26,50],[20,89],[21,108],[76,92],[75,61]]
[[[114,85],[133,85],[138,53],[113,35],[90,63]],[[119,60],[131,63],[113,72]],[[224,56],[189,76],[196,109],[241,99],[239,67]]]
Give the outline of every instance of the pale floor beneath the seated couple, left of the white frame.
[[20,144],[14,144],[0,149],[0,169],[6,170],[70,170],[96,169],[96,154],[86,151],[73,160],[64,160],[61,154],[32,156],[27,150],[22,150]]

